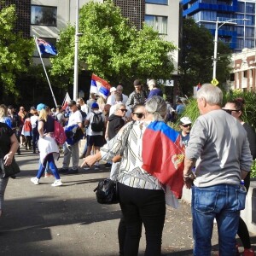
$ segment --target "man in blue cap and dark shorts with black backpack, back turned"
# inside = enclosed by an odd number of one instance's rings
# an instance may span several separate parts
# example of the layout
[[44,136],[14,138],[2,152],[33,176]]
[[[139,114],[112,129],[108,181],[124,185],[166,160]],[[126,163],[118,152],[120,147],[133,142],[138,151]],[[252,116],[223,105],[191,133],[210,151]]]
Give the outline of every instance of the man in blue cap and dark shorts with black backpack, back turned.
[[[85,157],[90,155],[91,149],[94,146],[95,154],[99,152],[100,148],[104,145],[104,137],[103,137],[103,131],[92,131],[91,129],[91,123],[93,121],[94,115],[101,113],[99,111],[99,105],[97,103],[93,103],[91,105],[91,112],[87,114],[86,119],[84,121],[85,127],[87,127],[87,151],[85,154]],[[102,121],[105,123],[105,116],[102,113]],[[99,163],[96,162],[95,168],[98,168]],[[89,168],[84,168],[89,169]]]

